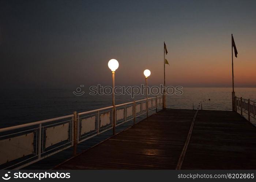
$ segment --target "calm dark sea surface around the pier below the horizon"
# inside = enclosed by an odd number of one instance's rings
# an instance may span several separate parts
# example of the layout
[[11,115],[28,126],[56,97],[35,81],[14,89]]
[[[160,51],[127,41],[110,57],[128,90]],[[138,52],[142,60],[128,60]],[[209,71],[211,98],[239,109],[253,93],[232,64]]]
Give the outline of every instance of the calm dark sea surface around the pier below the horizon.
[[[82,96],[73,94],[74,90],[9,90],[2,91],[0,95],[0,128],[35,122],[39,120],[72,114],[73,111],[90,111],[97,108],[112,105],[111,95],[91,96],[87,93]],[[182,95],[167,96],[168,108],[192,109],[200,108],[199,103],[205,110],[227,110],[231,108],[232,88],[183,88]],[[236,88],[236,96],[256,101],[256,88]],[[116,96],[116,104],[144,99],[145,96],[136,96],[134,99],[129,95]],[[138,118],[138,121],[143,117]],[[131,126],[126,123],[118,128],[119,131]],[[87,149],[99,141],[111,136],[112,131],[105,132],[97,137],[79,144],[78,152]],[[72,149],[46,158],[27,169],[49,169],[57,163],[72,156]]]

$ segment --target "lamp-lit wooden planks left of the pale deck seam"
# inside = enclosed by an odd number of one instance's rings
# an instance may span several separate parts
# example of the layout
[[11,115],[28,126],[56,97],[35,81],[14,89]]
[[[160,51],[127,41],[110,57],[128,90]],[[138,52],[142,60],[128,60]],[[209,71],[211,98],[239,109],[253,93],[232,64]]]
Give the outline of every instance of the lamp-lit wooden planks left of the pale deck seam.
[[162,110],[54,169],[175,169],[195,110]]

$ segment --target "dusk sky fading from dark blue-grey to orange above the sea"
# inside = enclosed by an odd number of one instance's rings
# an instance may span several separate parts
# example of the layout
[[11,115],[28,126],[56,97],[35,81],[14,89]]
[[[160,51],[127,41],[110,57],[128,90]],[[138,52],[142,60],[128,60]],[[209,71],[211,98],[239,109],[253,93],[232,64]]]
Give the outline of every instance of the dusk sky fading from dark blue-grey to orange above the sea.
[[0,1],[1,85],[256,87],[256,1]]

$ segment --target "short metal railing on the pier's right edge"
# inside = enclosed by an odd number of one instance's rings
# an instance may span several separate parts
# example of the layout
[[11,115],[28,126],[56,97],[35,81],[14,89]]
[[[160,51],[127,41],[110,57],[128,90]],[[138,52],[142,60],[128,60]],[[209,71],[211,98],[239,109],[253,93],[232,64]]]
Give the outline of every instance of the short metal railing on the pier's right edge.
[[248,115],[248,120],[251,121],[251,117],[256,119],[256,102],[251,101],[250,99],[243,99],[238,98],[235,96],[235,108],[236,112],[237,110],[240,110],[240,114],[243,115],[247,114]]

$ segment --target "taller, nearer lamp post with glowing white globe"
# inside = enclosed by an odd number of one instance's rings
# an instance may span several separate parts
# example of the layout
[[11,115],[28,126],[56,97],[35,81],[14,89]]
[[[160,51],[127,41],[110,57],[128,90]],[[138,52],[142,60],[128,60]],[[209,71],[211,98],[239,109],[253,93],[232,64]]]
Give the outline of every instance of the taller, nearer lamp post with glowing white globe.
[[113,135],[116,133],[116,106],[115,106],[115,71],[118,68],[119,63],[116,59],[110,59],[108,63],[109,69],[112,71],[112,103],[113,103]]

